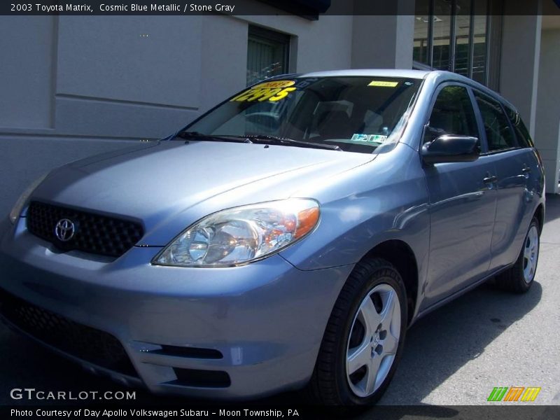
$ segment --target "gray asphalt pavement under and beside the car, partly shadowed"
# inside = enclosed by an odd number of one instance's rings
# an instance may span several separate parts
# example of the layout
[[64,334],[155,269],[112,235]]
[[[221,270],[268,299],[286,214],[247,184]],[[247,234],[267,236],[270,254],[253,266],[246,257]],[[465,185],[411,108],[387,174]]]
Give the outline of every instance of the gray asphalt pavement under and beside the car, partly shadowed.
[[[538,271],[529,293],[514,295],[485,284],[419,320],[407,333],[400,366],[379,404],[511,404],[486,400],[496,386],[537,386],[541,391],[531,404],[560,405],[559,273],[560,196],[548,195]],[[3,325],[0,349],[0,405],[18,403],[10,398],[12,388],[125,389]],[[170,401],[137,391],[137,402]],[[288,393],[265,402],[290,404],[298,398]]]

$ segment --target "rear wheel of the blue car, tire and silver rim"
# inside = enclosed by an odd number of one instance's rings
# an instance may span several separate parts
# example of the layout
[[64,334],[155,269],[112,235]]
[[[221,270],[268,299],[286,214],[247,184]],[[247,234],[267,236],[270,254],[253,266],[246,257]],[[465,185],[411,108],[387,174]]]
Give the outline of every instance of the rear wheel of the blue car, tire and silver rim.
[[512,267],[496,276],[496,285],[510,292],[526,293],[535,279],[539,250],[540,226],[538,220],[533,218],[517,261]]

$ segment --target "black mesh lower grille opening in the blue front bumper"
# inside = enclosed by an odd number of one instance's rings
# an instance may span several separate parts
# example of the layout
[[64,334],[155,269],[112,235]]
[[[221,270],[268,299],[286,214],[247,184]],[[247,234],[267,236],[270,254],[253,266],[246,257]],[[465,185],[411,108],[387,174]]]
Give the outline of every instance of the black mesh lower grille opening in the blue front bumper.
[[36,339],[100,367],[137,377],[118,339],[40,308],[0,289],[0,314]]

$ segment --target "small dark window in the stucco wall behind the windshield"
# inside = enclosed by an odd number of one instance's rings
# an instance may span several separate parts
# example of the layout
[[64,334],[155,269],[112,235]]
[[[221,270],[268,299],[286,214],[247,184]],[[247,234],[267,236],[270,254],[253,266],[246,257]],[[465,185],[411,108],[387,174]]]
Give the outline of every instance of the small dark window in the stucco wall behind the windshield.
[[249,26],[247,44],[247,85],[288,73],[290,36]]

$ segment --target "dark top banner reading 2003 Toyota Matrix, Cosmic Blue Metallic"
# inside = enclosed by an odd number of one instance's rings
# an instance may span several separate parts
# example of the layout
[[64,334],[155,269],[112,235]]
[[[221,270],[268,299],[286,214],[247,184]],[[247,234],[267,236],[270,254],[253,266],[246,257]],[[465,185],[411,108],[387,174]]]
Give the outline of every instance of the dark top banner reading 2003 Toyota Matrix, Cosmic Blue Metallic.
[[[560,0],[491,0],[489,14],[559,15]],[[0,15],[415,15],[415,1],[393,0],[7,0]],[[451,2],[450,2],[451,3]],[[458,14],[461,11],[458,10]]]

